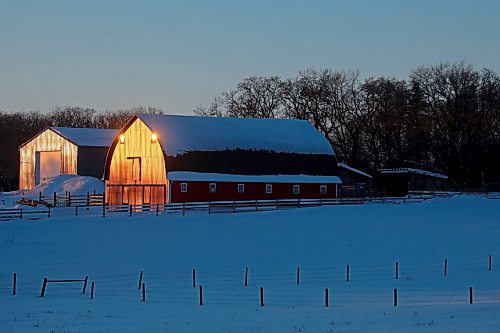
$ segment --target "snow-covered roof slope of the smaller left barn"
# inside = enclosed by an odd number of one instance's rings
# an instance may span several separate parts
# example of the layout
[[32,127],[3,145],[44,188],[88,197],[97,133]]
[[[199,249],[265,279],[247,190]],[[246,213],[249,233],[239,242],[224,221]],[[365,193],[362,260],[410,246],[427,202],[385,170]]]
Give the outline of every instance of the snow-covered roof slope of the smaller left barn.
[[118,130],[102,128],[49,127],[54,132],[84,147],[109,147]]

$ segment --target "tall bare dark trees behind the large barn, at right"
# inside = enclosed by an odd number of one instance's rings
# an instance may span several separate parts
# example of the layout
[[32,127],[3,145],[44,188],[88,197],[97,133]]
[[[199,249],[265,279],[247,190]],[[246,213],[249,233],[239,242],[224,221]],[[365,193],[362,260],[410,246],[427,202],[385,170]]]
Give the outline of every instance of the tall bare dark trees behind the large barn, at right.
[[194,112],[308,120],[339,160],[374,173],[412,163],[457,188],[500,181],[500,77],[463,62],[420,66],[406,80],[332,69],[249,77]]

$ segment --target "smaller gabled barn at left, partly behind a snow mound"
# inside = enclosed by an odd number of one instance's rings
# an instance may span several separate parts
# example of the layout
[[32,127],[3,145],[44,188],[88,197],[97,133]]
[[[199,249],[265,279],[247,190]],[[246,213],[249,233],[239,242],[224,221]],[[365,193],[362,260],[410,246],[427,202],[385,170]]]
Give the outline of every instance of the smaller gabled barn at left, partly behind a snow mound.
[[48,127],[19,147],[19,188],[32,189],[60,174],[101,179],[118,130]]

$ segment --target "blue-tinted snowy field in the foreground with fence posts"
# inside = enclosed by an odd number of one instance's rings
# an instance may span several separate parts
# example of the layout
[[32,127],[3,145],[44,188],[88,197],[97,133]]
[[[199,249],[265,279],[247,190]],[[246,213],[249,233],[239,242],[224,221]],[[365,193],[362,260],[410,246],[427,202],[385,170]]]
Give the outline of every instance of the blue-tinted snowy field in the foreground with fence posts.
[[[3,222],[0,332],[498,332],[499,212],[500,200],[456,196],[245,214]],[[43,277],[86,274],[96,283],[94,300],[81,284],[49,283],[39,297]]]

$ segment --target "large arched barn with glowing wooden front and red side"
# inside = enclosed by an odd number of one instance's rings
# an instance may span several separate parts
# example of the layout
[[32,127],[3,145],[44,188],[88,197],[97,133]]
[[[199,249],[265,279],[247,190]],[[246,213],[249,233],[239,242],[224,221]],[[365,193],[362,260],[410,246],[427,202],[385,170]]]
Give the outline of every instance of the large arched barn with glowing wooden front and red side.
[[307,121],[139,114],[113,141],[109,204],[333,198],[337,160]]

